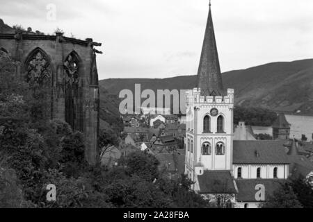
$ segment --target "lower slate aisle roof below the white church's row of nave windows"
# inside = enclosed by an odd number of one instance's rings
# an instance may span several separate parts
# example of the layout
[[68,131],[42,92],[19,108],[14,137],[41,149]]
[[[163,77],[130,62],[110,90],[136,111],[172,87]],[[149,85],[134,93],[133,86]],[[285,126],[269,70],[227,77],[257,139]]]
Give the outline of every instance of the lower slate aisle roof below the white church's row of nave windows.
[[265,200],[268,196],[273,195],[273,192],[283,184],[285,180],[275,180],[275,179],[244,179],[236,180],[236,186],[238,188],[238,194],[236,200],[241,202],[259,202],[255,200],[255,194],[257,190],[255,189],[256,185],[264,185],[265,187]]

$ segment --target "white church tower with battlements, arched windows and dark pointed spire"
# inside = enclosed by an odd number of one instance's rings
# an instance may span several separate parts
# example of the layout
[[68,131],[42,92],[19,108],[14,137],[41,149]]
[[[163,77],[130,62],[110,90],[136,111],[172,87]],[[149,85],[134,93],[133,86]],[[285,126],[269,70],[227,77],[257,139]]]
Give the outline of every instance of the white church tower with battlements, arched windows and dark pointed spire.
[[185,173],[195,190],[206,172],[232,174],[233,108],[234,89],[223,90],[210,3],[198,87],[186,93]]

